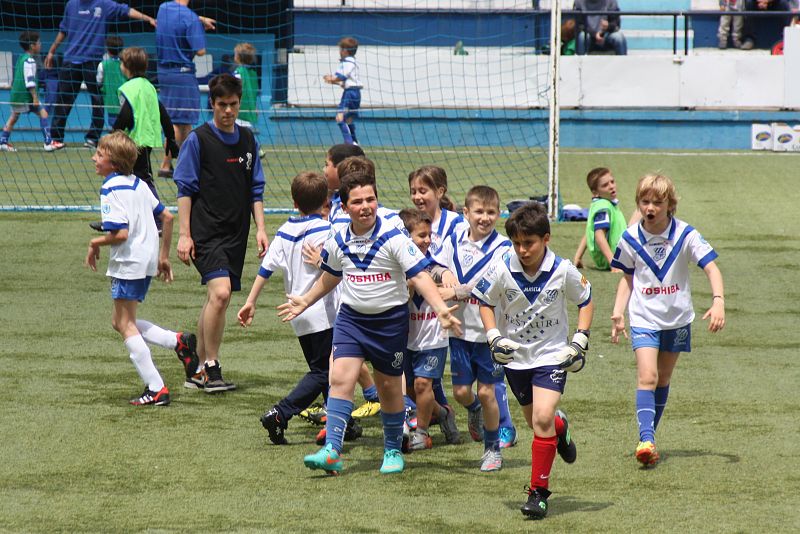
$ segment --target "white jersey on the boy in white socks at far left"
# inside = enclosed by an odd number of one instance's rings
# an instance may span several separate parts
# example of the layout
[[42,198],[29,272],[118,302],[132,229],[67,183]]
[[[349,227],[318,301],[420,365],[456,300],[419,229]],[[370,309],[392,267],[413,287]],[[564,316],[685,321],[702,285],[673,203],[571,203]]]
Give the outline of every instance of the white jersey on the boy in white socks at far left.
[[134,175],[112,173],[100,189],[103,230],[127,228],[128,239],[111,246],[106,276],[140,280],[158,272],[158,228],[153,215],[164,205]]

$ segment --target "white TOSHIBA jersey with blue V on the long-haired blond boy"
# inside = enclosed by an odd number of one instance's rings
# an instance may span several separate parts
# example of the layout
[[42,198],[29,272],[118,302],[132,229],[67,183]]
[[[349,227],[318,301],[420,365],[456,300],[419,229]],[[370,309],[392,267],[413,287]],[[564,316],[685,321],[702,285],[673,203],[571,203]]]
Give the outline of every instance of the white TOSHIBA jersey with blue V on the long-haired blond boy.
[[703,236],[679,219],[673,218],[658,235],[646,232],[641,224],[625,230],[611,267],[633,276],[628,303],[631,327],[671,330],[694,321],[689,263],[702,269],[716,258]]

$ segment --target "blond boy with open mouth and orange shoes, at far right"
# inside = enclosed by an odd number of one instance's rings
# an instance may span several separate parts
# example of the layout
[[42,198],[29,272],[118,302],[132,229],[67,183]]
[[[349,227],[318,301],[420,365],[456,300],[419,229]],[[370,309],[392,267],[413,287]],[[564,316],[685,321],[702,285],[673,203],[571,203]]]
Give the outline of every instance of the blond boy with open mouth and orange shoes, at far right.
[[725,292],[717,253],[700,233],[675,218],[678,196],[672,180],[648,174],[636,186],[641,223],[629,227],[614,253],[611,267],[625,274],[617,287],[611,316],[611,341],[628,337],[623,313],[628,307],[631,344],[636,356],[636,459],[658,462],[655,433],[669,396],[670,379],[681,352],[691,352],[694,307],[689,263],[703,269],[711,284],[711,307],[703,314],[708,329],[725,326]]

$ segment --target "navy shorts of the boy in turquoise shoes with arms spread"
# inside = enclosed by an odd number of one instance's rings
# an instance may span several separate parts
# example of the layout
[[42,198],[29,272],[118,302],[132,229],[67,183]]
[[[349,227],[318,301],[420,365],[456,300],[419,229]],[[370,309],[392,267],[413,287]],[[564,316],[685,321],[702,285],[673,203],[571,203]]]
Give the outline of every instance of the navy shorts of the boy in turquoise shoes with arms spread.
[[408,305],[364,314],[342,304],[333,326],[333,359],[364,358],[389,376],[403,374],[408,341]]

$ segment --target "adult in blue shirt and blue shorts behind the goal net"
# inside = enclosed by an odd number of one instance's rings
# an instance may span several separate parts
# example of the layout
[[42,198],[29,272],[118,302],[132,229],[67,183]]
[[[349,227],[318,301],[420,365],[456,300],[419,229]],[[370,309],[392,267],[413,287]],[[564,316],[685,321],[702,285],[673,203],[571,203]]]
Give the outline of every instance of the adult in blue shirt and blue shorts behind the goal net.
[[[198,17],[189,9],[189,0],[164,2],[156,15],[156,55],[160,99],[167,108],[180,146],[200,119],[200,88],[195,76],[194,56],[206,53],[205,30],[216,21]],[[172,176],[172,162],[164,156],[158,175]]]

